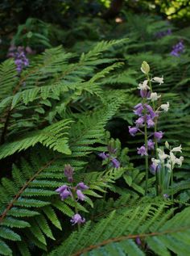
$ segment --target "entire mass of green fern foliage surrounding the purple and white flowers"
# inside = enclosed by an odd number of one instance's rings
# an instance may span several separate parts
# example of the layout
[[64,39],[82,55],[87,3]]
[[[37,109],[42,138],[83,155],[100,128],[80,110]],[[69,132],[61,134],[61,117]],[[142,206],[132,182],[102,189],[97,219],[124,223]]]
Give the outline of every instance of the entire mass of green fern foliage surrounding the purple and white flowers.
[[[83,31],[81,41],[68,40],[67,50],[58,46],[31,57],[20,74],[12,60],[0,65],[1,255],[188,255],[189,29],[175,31],[153,16],[123,12],[123,18],[114,30],[106,23],[105,31],[102,20],[94,19],[90,25],[99,30],[91,28],[96,33],[88,40],[89,19],[78,19],[78,27],[64,31],[64,40]],[[40,24],[47,36],[49,27]],[[168,28],[171,36],[156,38],[156,31]],[[35,30],[30,23],[27,29]],[[19,35],[17,40],[26,39]],[[180,39],[185,52],[171,57]],[[136,154],[144,142],[128,134],[142,61],[151,66],[150,75],[163,75],[164,84],[155,90],[171,106],[158,128],[170,145],[183,147],[184,164],[167,191],[175,195],[174,203],[155,197],[151,174],[144,196],[145,170]],[[109,144],[117,149],[118,169],[98,157]],[[82,181],[89,187],[84,202],[75,205],[56,193],[68,184],[65,164],[74,169],[73,186]],[[70,225],[76,208],[87,221],[80,231]]]

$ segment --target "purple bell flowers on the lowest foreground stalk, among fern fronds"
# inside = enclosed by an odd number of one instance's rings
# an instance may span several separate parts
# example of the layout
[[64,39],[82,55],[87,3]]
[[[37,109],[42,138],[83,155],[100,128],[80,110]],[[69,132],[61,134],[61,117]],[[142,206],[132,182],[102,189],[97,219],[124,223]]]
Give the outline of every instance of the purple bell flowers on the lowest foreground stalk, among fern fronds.
[[[64,168],[64,175],[68,178],[68,182],[72,183],[73,182],[73,168],[70,165],[65,165]],[[85,183],[78,183],[76,185],[76,187],[72,187],[72,186],[68,186],[68,185],[63,185],[61,187],[58,187],[56,189],[56,192],[58,192],[60,194],[60,199],[64,200],[67,199],[69,196],[77,201],[77,200],[81,200],[84,201],[85,200],[85,195],[83,194],[82,191],[85,191],[89,189],[88,186],[85,185]],[[72,216],[72,225],[77,224],[81,224],[85,222],[85,219],[81,217],[81,215],[77,212],[74,216]]]

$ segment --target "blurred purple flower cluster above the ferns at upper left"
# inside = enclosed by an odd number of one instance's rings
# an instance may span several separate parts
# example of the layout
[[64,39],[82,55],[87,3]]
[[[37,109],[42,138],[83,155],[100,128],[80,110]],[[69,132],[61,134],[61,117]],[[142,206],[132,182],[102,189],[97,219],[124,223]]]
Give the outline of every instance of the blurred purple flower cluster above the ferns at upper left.
[[27,47],[25,49],[22,46],[15,47],[14,45],[11,45],[9,48],[7,57],[14,58],[14,63],[17,66],[18,73],[21,73],[21,71],[29,65],[29,61],[26,57],[27,53],[28,54],[32,53],[32,50],[30,47]]

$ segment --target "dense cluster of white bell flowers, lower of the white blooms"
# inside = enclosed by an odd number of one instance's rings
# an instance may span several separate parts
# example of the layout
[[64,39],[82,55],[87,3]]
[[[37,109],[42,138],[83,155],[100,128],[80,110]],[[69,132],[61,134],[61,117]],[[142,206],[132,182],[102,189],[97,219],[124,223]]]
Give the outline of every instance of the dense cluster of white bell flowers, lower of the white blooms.
[[165,153],[163,149],[157,149],[159,153],[159,159],[151,158],[152,163],[157,166],[165,166],[167,167],[168,172],[171,172],[175,165],[181,166],[182,162],[184,161],[184,157],[176,157],[174,153],[180,152],[181,151],[181,145],[179,147],[175,147],[171,149],[170,145],[168,142],[165,142],[165,146],[167,149],[169,149],[169,154]]

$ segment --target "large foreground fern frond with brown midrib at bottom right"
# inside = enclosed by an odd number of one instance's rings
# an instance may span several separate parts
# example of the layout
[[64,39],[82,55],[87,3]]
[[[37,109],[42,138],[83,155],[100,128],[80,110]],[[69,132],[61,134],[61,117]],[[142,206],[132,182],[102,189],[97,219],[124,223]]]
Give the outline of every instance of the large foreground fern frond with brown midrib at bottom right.
[[[145,243],[149,246],[147,251],[152,250],[158,255],[171,255],[170,251],[188,254],[189,208],[171,217],[173,210],[166,211],[167,203],[159,200],[143,199],[138,206],[133,205],[134,202],[132,205],[127,203],[127,207],[101,218],[93,229],[87,222],[80,233],[72,233],[47,255],[145,255],[142,250]],[[141,246],[135,243],[135,238],[141,239]]]

